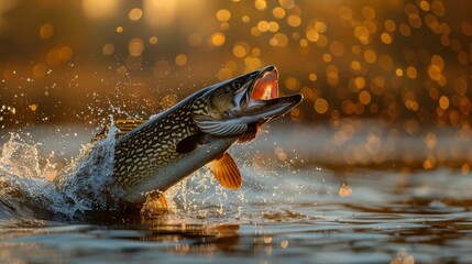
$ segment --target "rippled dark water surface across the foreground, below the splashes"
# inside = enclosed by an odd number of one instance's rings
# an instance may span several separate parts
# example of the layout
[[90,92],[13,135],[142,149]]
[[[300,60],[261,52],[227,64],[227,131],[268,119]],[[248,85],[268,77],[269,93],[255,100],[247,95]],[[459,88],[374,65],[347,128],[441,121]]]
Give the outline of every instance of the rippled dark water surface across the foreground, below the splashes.
[[[322,174],[322,188],[332,187],[331,172]],[[450,198],[447,187],[422,195],[414,195],[417,186],[385,194],[395,175],[369,174],[382,176],[351,178],[350,198],[312,194],[316,204],[305,201],[308,195],[287,205],[249,201],[239,218],[229,210],[206,219],[179,212],[127,223],[3,220],[0,255],[18,263],[389,263],[397,254],[404,263],[471,260],[469,198]],[[435,183],[446,174],[440,169],[422,177]],[[448,177],[451,189],[470,189],[471,179],[468,186],[454,186],[457,177]],[[355,195],[356,186],[360,191],[371,188],[373,198]],[[441,190],[442,196],[428,197]]]

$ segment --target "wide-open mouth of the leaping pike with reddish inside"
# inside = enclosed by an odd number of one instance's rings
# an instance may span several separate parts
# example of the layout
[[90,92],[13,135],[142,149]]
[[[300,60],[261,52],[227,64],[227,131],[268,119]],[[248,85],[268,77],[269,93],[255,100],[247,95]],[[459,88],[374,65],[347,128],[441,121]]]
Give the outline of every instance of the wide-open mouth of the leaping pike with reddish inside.
[[303,100],[300,94],[278,96],[278,72],[275,66],[268,66],[256,72],[254,84],[245,91],[245,106],[233,113],[233,117],[244,122],[270,120],[289,112]]

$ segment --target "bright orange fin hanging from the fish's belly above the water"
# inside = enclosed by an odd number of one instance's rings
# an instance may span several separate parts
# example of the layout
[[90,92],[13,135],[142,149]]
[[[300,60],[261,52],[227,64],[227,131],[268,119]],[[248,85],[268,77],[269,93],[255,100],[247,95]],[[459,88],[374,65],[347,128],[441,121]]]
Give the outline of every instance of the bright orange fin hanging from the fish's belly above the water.
[[211,166],[215,177],[223,187],[229,189],[239,189],[241,187],[241,173],[228,152],[224,152],[220,158],[213,160]]

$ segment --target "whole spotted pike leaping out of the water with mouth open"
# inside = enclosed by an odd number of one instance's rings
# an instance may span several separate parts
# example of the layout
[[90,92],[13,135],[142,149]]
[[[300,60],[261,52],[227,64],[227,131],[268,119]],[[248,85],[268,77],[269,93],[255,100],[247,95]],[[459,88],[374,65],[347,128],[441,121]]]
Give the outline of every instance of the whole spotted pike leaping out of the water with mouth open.
[[[289,112],[300,94],[278,97],[275,66],[204,88],[150,120],[119,120],[111,185],[121,205],[142,205],[211,163],[217,180],[238,189],[242,179],[228,148],[255,139],[260,127]],[[103,136],[106,131],[97,135]]]

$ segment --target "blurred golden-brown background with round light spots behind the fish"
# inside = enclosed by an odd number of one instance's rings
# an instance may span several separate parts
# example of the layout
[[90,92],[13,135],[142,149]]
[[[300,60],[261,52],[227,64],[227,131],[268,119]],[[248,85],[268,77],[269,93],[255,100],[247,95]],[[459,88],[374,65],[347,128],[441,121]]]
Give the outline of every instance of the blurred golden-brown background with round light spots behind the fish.
[[[469,0],[0,0],[0,128],[145,118],[274,64],[282,94],[305,96],[286,117],[290,144],[318,139],[328,151],[310,154],[318,162],[469,174],[471,10]],[[287,148],[273,154],[284,161]]]

